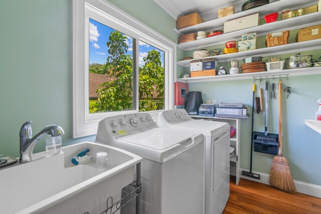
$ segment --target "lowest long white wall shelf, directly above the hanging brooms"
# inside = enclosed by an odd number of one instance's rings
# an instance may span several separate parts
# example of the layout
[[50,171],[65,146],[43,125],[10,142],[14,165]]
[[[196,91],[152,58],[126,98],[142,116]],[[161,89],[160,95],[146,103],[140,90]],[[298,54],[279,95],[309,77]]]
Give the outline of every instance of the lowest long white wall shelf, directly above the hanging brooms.
[[244,74],[230,74],[230,75],[217,75],[210,77],[193,77],[193,78],[180,78],[177,79],[178,82],[183,83],[196,83],[196,82],[214,82],[214,81],[227,81],[227,80],[245,80],[252,79],[253,77],[259,76],[275,76],[275,79],[279,75],[289,76],[299,76],[299,75],[312,75],[321,74],[321,67],[310,67],[310,68],[297,68],[297,69],[287,69],[281,71],[265,71],[265,72],[254,72],[254,73],[244,73]]

